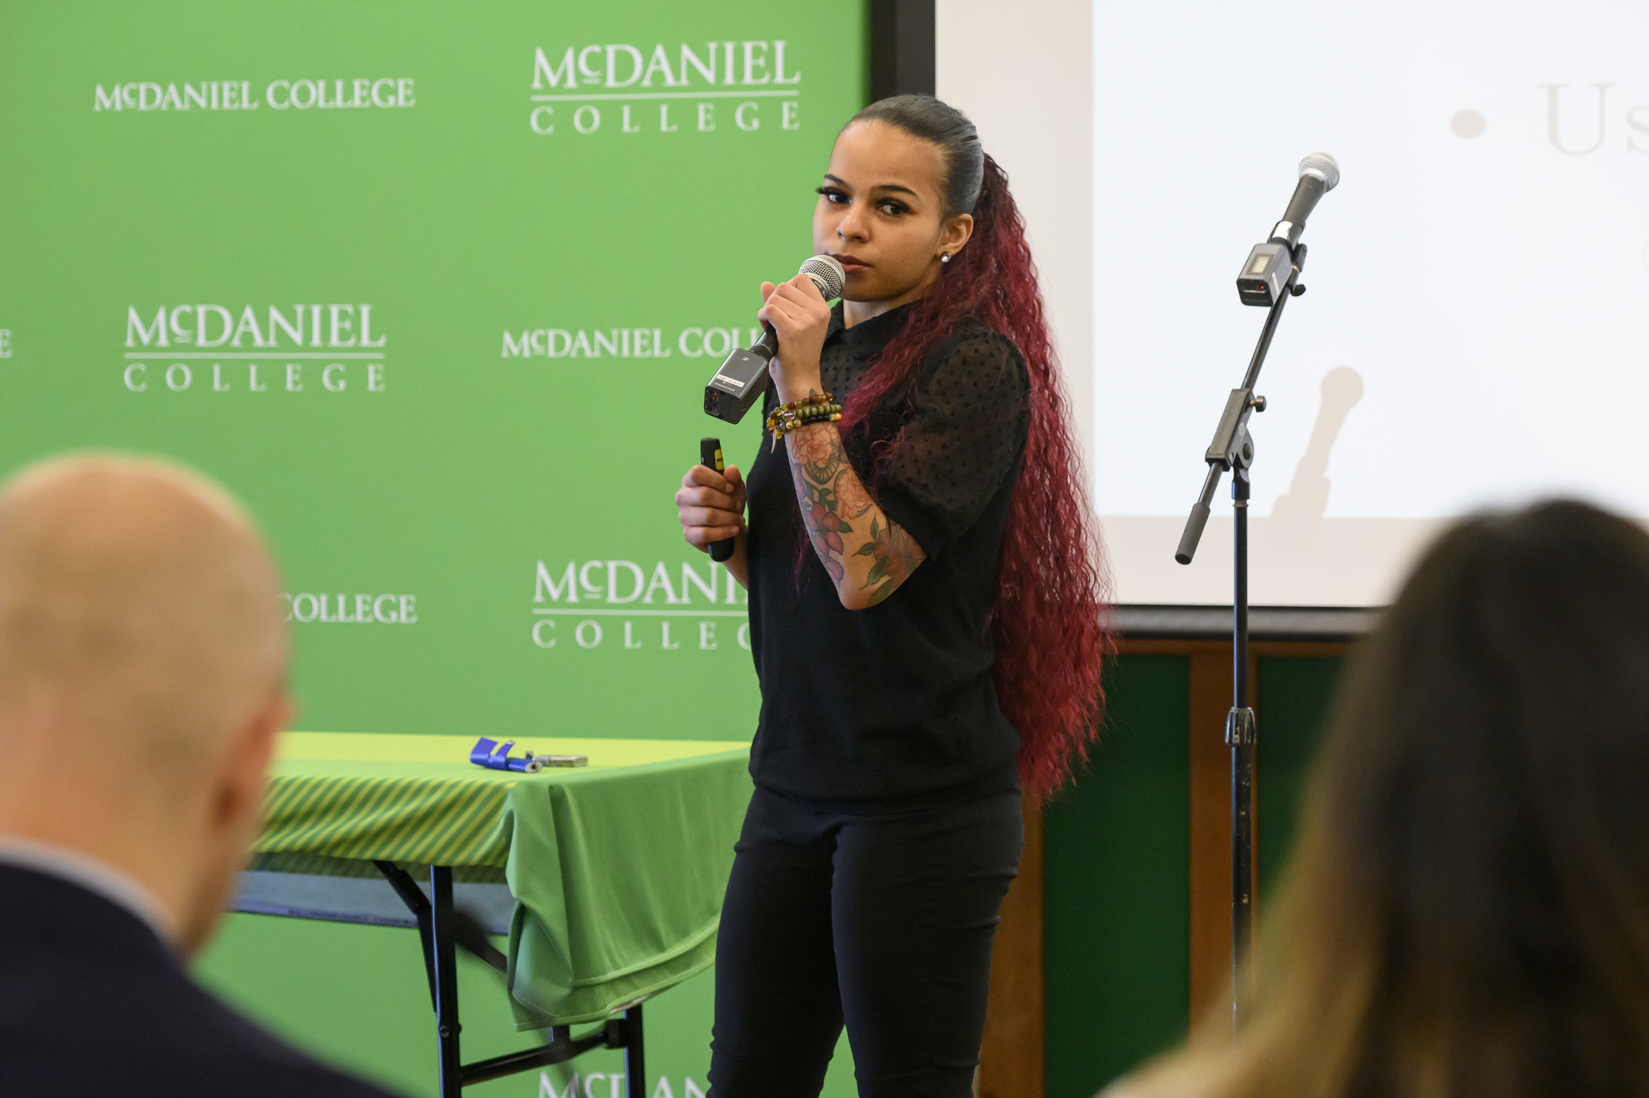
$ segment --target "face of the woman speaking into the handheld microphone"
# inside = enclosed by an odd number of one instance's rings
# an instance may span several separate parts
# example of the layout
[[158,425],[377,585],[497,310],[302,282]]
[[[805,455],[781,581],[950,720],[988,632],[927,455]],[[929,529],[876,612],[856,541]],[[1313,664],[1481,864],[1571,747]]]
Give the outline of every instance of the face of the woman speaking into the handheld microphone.
[[886,122],[854,122],[829,155],[813,209],[813,249],[848,272],[843,298],[902,305],[968,242],[973,218],[945,218],[938,145]]

